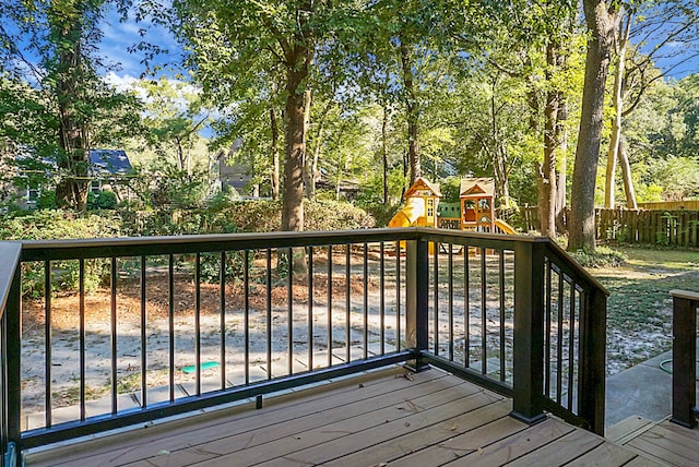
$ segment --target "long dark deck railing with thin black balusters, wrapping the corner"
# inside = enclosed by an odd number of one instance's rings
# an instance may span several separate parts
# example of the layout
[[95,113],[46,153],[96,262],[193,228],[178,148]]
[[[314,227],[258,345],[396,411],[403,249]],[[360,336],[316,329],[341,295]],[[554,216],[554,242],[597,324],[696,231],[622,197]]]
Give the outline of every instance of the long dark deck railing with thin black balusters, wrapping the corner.
[[408,228],[17,254],[0,271],[3,450],[396,362],[511,396],[529,422],[604,427],[606,291],[547,238]]

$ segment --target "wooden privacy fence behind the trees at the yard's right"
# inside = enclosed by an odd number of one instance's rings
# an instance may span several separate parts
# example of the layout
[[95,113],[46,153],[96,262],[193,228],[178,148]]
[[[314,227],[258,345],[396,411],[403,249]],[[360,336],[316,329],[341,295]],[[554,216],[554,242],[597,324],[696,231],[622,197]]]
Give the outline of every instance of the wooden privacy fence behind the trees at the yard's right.
[[[595,214],[597,240],[699,247],[699,211],[595,209]],[[509,221],[525,231],[538,230],[538,208],[522,207],[520,219]]]

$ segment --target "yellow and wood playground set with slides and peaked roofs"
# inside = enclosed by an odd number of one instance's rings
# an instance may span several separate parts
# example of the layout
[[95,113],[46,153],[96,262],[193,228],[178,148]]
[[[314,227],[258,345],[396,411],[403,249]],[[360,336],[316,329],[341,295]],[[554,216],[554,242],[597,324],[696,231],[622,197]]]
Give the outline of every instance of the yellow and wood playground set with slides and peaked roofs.
[[491,178],[462,179],[459,203],[440,203],[441,196],[438,184],[417,178],[405,192],[405,205],[389,221],[389,227],[440,227],[517,235],[509,224],[495,217]]

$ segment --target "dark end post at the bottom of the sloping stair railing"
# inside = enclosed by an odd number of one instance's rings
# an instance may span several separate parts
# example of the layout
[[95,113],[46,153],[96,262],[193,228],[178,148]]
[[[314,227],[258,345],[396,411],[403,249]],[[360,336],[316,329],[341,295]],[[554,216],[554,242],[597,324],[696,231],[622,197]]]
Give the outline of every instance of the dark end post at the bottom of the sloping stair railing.
[[582,307],[578,415],[590,423],[592,432],[604,435],[607,298],[592,288]]

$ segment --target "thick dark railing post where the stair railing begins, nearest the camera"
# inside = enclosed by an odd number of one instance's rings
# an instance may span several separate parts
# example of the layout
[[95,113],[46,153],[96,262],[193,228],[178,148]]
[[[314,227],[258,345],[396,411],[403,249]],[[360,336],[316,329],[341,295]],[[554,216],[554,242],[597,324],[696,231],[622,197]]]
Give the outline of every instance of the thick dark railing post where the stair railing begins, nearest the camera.
[[512,417],[533,424],[544,415],[544,243],[514,247]]

